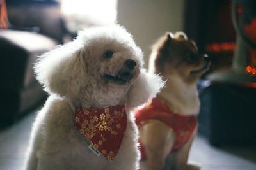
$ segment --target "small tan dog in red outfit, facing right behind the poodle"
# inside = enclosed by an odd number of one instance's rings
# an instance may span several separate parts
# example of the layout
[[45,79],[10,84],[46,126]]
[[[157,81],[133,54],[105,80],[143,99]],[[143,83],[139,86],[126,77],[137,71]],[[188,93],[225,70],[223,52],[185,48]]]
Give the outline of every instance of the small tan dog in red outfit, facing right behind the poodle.
[[144,168],[164,169],[169,162],[175,170],[200,169],[187,160],[200,107],[196,82],[209,67],[209,59],[198,53],[184,32],[166,32],[153,46],[149,64],[150,72],[166,80],[166,87],[135,112],[141,153],[147,160]]

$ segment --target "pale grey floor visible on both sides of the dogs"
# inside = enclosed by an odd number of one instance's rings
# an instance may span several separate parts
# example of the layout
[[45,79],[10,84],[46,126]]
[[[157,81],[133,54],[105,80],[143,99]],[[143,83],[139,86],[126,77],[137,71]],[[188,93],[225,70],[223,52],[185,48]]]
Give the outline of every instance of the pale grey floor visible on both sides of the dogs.
[[[24,170],[24,153],[35,113],[32,111],[12,127],[0,130],[0,170]],[[197,136],[189,160],[199,162],[202,170],[256,170],[256,146],[214,148]]]

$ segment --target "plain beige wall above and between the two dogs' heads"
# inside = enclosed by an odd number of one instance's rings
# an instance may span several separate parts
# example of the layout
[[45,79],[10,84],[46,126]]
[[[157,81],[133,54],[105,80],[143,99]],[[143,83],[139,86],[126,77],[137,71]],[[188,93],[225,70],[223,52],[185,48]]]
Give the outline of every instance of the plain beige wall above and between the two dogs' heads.
[[183,31],[185,0],[118,0],[117,20],[134,36],[145,53],[145,67],[151,45],[166,31]]

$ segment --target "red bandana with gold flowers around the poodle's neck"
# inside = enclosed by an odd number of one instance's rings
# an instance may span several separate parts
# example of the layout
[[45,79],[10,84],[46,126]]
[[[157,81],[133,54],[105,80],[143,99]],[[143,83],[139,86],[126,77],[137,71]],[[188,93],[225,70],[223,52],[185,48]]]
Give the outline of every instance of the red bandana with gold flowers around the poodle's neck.
[[118,153],[127,125],[125,106],[76,108],[75,115],[77,131],[106,159],[113,160]]

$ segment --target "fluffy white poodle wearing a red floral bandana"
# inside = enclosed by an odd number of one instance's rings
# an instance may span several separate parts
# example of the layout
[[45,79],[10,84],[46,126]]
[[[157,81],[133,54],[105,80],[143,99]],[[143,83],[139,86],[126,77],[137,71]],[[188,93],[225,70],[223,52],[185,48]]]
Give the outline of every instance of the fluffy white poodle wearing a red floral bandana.
[[130,111],[164,82],[143,69],[143,52],[124,27],[80,31],[42,55],[35,73],[49,98],[33,124],[26,169],[138,169]]

